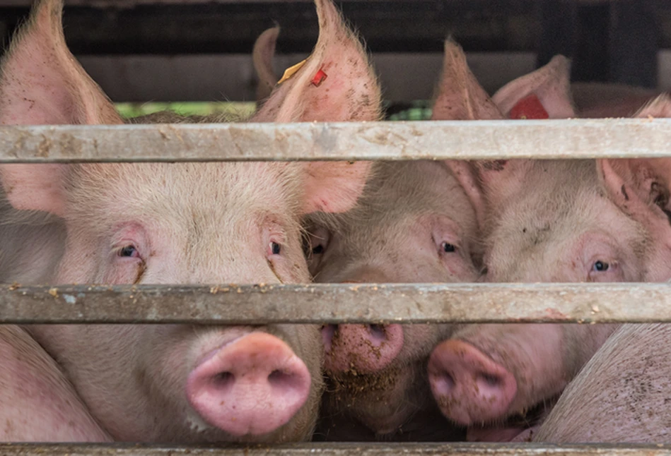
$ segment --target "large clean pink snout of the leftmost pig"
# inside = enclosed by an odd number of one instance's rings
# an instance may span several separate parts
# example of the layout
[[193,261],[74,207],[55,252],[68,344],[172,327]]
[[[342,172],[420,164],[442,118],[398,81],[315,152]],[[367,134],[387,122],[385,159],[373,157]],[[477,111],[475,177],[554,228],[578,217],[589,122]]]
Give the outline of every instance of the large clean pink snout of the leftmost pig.
[[252,332],[211,353],[189,374],[187,398],[212,426],[233,436],[286,424],[310,394],[310,373],[287,344]]

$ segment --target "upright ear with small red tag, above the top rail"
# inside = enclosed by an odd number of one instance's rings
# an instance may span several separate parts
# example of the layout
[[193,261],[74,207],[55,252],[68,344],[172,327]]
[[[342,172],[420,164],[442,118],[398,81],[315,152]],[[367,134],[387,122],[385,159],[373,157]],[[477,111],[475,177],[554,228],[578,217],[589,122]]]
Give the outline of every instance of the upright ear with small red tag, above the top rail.
[[285,73],[252,121],[380,120],[380,87],[361,42],[331,0],[315,5],[320,31],[313,53],[291,76]]

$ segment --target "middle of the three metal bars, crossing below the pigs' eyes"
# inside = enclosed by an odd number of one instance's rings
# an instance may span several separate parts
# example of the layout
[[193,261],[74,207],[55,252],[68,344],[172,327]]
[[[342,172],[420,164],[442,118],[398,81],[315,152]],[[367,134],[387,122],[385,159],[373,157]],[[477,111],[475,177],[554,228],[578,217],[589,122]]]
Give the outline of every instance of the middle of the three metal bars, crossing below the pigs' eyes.
[[671,284],[0,287],[0,323],[671,323]]

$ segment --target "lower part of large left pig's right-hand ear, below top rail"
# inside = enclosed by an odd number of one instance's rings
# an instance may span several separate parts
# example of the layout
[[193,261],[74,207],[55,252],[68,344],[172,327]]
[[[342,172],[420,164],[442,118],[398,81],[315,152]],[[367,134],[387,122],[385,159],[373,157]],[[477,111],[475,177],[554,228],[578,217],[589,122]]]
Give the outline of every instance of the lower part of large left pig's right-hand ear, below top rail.
[[370,162],[310,162],[305,172],[303,212],[345,212],[363,193]]

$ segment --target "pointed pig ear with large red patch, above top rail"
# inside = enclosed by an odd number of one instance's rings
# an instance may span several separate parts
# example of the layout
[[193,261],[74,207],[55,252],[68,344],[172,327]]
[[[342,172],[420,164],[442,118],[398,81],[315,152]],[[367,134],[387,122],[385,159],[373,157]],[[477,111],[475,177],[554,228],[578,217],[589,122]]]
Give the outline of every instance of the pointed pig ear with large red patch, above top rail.
[[492,100],[509,119],[575,117],[571,61],[561,55],[554,56],[542,68],[504,85]]

